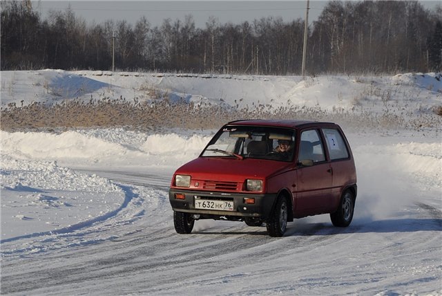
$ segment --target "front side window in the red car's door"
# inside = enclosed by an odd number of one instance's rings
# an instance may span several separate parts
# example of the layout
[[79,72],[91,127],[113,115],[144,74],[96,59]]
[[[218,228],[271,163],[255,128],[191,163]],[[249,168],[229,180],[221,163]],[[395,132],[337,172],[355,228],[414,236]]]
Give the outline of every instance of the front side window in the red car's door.
[[325,160],[323,142],[316,129],[302,131],[298,161],[313,160],[314,163]]

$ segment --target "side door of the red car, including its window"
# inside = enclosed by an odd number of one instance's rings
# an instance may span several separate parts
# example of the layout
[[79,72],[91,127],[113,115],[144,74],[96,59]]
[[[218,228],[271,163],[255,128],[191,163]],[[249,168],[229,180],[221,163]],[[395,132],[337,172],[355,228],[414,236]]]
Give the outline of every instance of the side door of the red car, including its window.
[[[332,203],[333,176],[325,155],[319,130],[301,131],[296,170],[296,217],[323,213]],[[305,165],[301,165],[302,162]]]

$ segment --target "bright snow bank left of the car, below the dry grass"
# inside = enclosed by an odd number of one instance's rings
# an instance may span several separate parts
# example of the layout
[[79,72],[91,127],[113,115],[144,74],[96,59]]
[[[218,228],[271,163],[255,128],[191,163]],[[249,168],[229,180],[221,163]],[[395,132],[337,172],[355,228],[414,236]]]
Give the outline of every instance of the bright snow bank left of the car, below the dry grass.
[[200,154],[209,136],[146,135],[122,129],[94,129],[63,133],[0,131],[2,154],[27,160],[67,164],[176,165]]

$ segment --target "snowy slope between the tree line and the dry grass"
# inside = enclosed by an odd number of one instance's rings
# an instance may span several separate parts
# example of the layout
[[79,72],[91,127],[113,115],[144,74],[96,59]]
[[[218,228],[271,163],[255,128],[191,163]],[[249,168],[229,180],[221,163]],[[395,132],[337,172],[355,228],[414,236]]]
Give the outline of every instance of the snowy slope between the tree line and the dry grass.
[[[431,113],[441,104],[434,95],[442,92],[441,73],[407,73],[392,77],[345,75],[307,77],[198,75],[165,73],[111,73],[103,71],[4,71],[1,73],[1,104],[17,106],[31,102],[52,104],[59,100],[104,98],[148,101],[166,96],[231,107],[287,105],[327,110],[385,107]],[[23,101],[23,102],[22,102]]]

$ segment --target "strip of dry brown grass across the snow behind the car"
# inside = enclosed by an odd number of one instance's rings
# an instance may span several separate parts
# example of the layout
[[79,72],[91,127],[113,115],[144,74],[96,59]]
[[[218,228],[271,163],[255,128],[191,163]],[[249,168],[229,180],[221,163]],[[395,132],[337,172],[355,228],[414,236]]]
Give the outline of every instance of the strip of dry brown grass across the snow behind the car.
[[381,115],[357,109],[327,111],[320,107],[273,108],[269,104],[253,107],[223,107],[214,104],[170,103],[168,100],[127,102],[119,100],[70,100],[53,105],[33,103],[17,107],[10,104],[1,109],[0,124],[5,131],[39,129],[75,129],[124,127],[131,130],[180,127],[184,129],[218,129],[238,119],[297,119],[332,121],[355,129],[436,128],[442,118],[432,114],[411,115],[386,109]]

